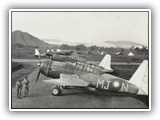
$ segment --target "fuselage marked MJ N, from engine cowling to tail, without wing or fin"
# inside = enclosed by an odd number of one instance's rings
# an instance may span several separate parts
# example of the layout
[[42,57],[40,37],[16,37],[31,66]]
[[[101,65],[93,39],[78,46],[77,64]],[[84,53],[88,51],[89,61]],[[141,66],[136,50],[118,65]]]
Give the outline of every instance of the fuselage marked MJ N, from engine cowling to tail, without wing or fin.
[[89,87],[115,92],[137,93],[139,88],[127,80],[106,74],[103,67],[82,62],[46,61],[41,63],[40,72],[51,78],[60,74],[77,75],[90,83]]

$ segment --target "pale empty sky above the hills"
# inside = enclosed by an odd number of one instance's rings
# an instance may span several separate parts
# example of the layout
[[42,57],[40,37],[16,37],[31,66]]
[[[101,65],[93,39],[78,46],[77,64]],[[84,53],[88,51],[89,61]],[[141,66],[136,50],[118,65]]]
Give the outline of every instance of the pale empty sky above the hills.
[[12,12],[12,31],[72,43],[132,41],[148,45],[148,12]]

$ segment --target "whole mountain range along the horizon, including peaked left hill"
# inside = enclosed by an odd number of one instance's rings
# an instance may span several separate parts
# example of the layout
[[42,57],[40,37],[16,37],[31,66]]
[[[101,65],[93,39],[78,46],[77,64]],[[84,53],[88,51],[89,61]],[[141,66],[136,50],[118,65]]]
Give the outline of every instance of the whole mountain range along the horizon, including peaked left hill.
[[130,42],[130,41],[103,41],[103,42],[93,42],[93,43],[81,43],[81,42],[67,42],[58,39],[39,39],[27,32],[22,32],[16,30],[12,32],[12,44],[22,44],[24,46],[39,46],[39,47],[53,47],[60,46],[62,44],[68,45],[78,45],[84,44],[85,46],[101,46],[101,47],[123,47],[130,48],[132,46],[143,46],[140,43]]

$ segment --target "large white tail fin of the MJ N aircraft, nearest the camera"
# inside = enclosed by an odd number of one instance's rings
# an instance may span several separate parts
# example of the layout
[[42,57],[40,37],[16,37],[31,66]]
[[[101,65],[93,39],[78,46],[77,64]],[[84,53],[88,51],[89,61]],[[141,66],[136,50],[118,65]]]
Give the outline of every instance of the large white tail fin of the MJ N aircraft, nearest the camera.
[[137,94],[148,95],[148,60],[143,60],[129,82],[139,87]]

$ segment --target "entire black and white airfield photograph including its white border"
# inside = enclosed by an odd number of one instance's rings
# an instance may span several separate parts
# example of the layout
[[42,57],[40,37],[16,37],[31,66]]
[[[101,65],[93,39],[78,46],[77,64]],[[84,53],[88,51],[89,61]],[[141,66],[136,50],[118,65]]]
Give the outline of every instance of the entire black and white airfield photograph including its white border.
[[10,9],[10,111],[150,111],[151,10]]

